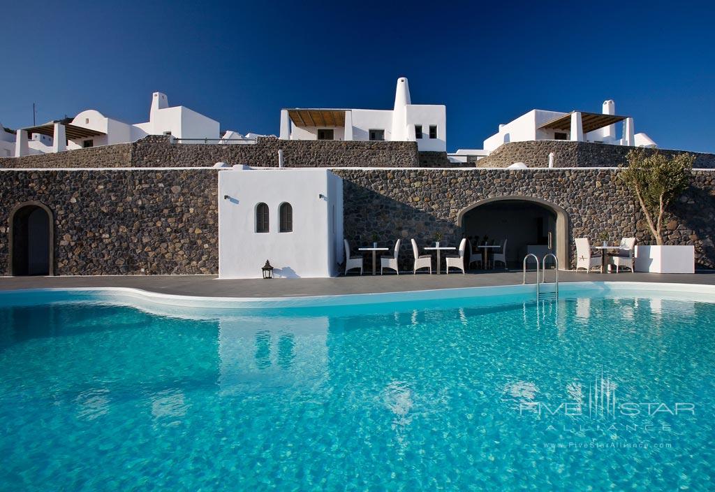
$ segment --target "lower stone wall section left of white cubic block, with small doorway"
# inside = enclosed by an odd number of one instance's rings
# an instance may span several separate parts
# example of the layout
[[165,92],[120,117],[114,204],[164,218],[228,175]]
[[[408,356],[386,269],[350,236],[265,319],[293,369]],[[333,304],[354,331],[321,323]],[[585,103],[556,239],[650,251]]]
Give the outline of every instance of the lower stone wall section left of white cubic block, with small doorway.
[[9,213],[54,215],[55,275],[218,271],[217,170],[0,171],[0,275],[10,275]]

